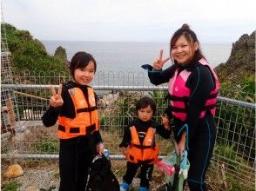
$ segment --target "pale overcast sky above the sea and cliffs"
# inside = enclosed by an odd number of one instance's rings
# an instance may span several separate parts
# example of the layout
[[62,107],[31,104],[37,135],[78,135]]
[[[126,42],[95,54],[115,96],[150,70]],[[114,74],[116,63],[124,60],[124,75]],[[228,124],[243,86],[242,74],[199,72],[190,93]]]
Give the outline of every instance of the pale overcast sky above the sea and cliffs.
[[168,42],[188,23],[202,43],[256,27],[255,0],[2,0],[3,20],[39,40]]

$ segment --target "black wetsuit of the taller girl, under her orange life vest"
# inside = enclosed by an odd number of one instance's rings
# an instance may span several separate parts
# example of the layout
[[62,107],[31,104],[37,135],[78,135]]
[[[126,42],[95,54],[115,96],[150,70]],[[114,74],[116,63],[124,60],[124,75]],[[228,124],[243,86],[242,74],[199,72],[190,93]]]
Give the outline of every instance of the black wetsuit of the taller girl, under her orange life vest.
[[[82,89],[84,96],[88,97],[86,86],[79,85],[75,82],[65,83],[62,89],[64,105],[60,108],[53,108],[50,106],[50,108],[47,109],[42,117],[45,127],[54,125],[57,122],[58,115],[75,118],[75,107],[71,100],[71,95],[68,92],[68,89],[71,88]],[[60,139],[60,191],[85,190],[88,169],[91,165],[93,156],[96,153],[96,145],[99,142],[102,142],[99,131],[93,132],[92,135],[81,135],[71,139]]]

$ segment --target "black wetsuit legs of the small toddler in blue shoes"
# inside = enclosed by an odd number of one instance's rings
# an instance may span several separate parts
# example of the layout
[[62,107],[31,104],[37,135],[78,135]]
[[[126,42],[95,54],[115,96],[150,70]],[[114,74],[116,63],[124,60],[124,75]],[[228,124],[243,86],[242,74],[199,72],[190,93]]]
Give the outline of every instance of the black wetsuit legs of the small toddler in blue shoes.
[[132,163],[130,161],[127,161],[127,169],[126,173],[123,177],[123,180],[131,184],[132,179],[137,173],[138,168],[140,167],[140,186],[149,188],[149,181],[152,179],[152,172],[153,172],[153,164],[146,164],[146,165],[138,165],[135,163]]

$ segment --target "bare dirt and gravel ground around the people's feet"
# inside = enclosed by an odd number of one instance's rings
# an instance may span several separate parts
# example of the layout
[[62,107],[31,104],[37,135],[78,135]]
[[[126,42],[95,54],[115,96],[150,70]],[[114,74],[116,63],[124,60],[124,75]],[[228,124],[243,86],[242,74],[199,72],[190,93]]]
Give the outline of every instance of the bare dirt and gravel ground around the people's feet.
[[[34,162],[34,163],[33,163]],[[10,181],[16,181],[20,184],[20,191],[53,191],[58,190],[59,184],[59,174],[58,174],[58,166],[57,162],[52,162],[50,165],[46,163],[38,163],[33,161],[30,164],[28,163],[20,163],[24,170],[24,175],[17,177],[12,180],[7,180],[2,177],[1,187],[3,188],[3,184],[8,183]],[[4,162],[3,162],[4,163]],[[39,166],[40,164],[40,166]],[[113,173],[117,176],[119,183],[122,182],[122,176],[125,174],[125,164],[126,161],[111,161],[111,169]],[[5,165],[2,164],[2,171],[4,170]],[[2,172],[3,173],[3,172]],[[157,168],[154,168],[152,181],[151,181],[151,190],[154,191],[161,185],[163,185],[164,176],[161,172],[158,171]],[[138,190],[139,187],[139,179],[135,177],[132,181],[132,185],[134,190]],[[189,189],[185,189],[189,190]]]

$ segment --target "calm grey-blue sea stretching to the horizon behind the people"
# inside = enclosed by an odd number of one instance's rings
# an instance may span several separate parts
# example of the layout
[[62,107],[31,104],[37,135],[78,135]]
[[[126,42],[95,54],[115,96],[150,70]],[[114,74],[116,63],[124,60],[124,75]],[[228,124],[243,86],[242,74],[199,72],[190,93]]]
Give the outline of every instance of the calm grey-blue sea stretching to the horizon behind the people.
[[[86,51],[95,57],[98,69],[120,70],[124,67],[135,69],[145,63],[153,63],[160,49],[164,56],[169,56],[169,43],[139,43],[139,42],[92,42],[92,41],[42,41],[46,51],[54,55],[57,47],[62,46],[67,53],[67,59],[77,51]],[[202,43],[201,49],[213,68],[220,63],[226,63],[230,56],[232,43]],[[167,62],[165,65],[171,64]],[[114,67],[111,67],[114,66]]]

